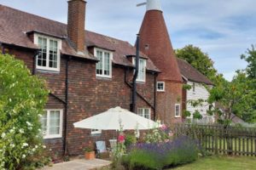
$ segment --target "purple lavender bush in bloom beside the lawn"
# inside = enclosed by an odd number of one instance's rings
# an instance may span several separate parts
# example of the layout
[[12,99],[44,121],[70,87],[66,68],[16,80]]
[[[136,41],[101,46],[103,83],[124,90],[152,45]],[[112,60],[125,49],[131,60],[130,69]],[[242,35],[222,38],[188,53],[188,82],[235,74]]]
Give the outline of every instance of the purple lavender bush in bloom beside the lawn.
[[126,169],[163,169],[195,161],[198,144],[183,136],[172,141],[136,144],[122,157]]

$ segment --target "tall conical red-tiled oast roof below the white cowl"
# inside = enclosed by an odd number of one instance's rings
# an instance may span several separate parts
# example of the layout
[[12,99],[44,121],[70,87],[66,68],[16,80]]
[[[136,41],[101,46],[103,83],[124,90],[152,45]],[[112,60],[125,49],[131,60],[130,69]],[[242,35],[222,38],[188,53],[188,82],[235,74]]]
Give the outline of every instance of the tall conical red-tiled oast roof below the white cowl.
[[158,79],[182,82],[162,11],[149,9],[146,12],[140,37],[140,50],[148,54],[154,65],[161,71]]

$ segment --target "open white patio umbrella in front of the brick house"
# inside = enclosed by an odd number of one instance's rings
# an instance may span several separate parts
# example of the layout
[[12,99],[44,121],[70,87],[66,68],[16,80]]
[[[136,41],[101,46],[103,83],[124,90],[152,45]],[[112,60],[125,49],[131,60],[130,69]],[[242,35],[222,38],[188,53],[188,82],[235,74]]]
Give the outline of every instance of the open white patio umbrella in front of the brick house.
[[99,115],[90,116],[83,121],[73,123],[74,127],[101,130],[119,130],[120,124],[123,130],[145,130],[160,127],[157,122],[151,121],[143,116],[138,116],[120,107],[109,109]]

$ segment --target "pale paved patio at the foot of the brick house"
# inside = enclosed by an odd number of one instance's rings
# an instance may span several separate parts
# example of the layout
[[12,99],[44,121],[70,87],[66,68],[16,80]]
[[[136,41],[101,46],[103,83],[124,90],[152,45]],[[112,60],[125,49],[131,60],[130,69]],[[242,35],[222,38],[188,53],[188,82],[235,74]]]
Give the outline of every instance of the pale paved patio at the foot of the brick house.
[[100,159],[84,160],[77,159],[73,161],[66,161],[57,163],[53,167],[44,167],[40,170],[92,170],[101,167],[107,167],[111,164],[111,161],[105,161]]

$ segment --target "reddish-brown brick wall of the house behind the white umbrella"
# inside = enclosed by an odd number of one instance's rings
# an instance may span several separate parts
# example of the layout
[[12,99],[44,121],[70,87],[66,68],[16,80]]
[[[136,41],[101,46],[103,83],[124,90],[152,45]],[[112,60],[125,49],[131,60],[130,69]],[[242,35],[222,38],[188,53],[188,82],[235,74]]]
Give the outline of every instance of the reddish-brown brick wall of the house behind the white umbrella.
[[[9,49],[9,53],[15,54],[17,59],[24,60],[32,71],[33,52]],[[90,130],[74,128],[73,123],[115,106],[129,110],[131,88],[125,83],[125,69],[117,65],[113,65],[112,79],[96,77],[96,64],[79,59],[71,59],[68,70],[67,150],[70,155],[79,155],[83,153],[83,148],[89,141],[108,141],[108,139],[113,139],[116,136],[116,132],[102,131],[100,135],[91,135]],[[36,71],[36,74],[47,80],[48,88],[52,94],[65,100],[66,59],[64,57],[61,57],[60,72]],[[128,71],[127,80],[131,80],[132,74],[133,71]],[[151,105],[154,105],[154,76],[147,73],[146,78],[145,83],[137,84],[138,92]],[[143,99],[137,96],[138,107],[150,108]],[[63,109],[65,112],[65,105],[55,97],[49,96],[45,109]],[[153,117],[154,111],[152,109],[151,113]],[[63,154],[63,138],[46,139],[45,144],[53,150],[53,154],[57,153],[59,156]]]

